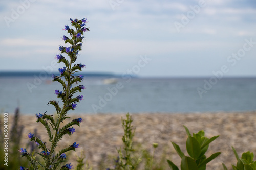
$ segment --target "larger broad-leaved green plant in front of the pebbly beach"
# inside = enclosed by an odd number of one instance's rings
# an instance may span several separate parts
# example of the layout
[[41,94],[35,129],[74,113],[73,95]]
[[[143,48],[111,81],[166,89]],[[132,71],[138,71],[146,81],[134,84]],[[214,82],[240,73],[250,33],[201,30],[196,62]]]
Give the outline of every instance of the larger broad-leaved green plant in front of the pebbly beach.
[[[219,136],[211,137],[210,139],[204,136],[204,131],[201,130],[198,133],[190,134],[187,127],[185,127],[187,133],[186,149],[189,156],[181,151],[179,145],[172,142],[174,149],[181,158],[181,170],[205,170],[206,164],[215,159],[221,153],[217,152],[206,158],[204,155],[209,148],[209,144]],[[178,170],[179,168],[170,160],[167,160],[170,169]]]

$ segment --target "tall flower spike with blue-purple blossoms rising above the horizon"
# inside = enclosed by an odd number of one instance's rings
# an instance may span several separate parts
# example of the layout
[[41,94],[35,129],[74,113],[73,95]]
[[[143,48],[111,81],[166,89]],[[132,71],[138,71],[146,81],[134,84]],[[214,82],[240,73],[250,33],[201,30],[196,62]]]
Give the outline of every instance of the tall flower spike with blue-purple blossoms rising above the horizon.
[[[75,128],[72,127],[73,125],[80,126],[82,122],[82,118],[76,118],[71,120],[69,123],[64,124],[64,120],[70,118],[67,116],[69,110],[74,110],[77,106],[77,102],[83,99],[82,95],[74,96],[76,92],[81,92],[84,89],[83,85],[78,85],[78,82],[82,82],[83,76],[74,76],[75,72],[81,71],[82,68],[85,67],[83,64],[74,64],[78,52],[81,50],[82,46],[82,39],[84,38],[82,35],[85,31],[89,31],[88,28],[85,27],[86,19],[75,19],[71,20],[71,25],[75,28],[72,29],[69,26],[65,26],[63,30],[66,30],[69,33],[69,37],[63,36],[63,40],[66,43],[69,43],[69,47],[59,46],[59,50],[61,54],[56,55],[56,59],[59,63],[65,64],[65,67],[59,68],[60,76],[52,75],[53,81],[59,82],[63,86],[63,91],[55,90],[55,94],[58,98],[61,99],[63,102],[63,106],[60,107],[59,102],[52,100],[48,104],[51,104],[55,107],[57,112],[57,118],[53,118],[53,115],[46,114],[36,114],[37,121],[40,122],[42,125],[45,126],[46,131],[49,136],[49,143],[45,139],[39,139],[33,133],[29,133],[28,137],[30,141],[35,141],[38,145],[38,148],[41,149],[41,152],[37,152],[44,162],[37,161],[34,157],[31,156],[24,148],[20,149],[22,153],[22,157],[26,157],[30,164],[31,169],[38,169],[39,167],[47,169],[71,169],[71,163],[62,164],[66,162],[66,152],[68,151],[75,151],[76,148],[79,147],[79,144],[74,142],[73,144],[69,145],[66,148],[61,149],[60,151],[55,151],[58,142],[61,138],[68,134],[71,136],[75,132]],[[62,56],[62,54],[64,56]],[[62,80],[64,79],[64,80]],[[73,86],[73,87],[72,87]],[[60,167],[61,166],[61,167]],[[25,167],[21,166],[20,169],[26,169]]]

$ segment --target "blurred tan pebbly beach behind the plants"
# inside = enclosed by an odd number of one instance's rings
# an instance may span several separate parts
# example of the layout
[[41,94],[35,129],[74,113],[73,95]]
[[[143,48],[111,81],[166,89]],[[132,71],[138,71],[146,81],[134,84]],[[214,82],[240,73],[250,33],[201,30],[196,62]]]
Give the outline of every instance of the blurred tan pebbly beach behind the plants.
[[[207,169],[222,169],[222,163],[225,163],[229,168],[231,163],[235,164],[236,158],[231,146],[237,149],[240,156],[247,151],[256,153],[256,137],[254,135],[256,131],[256,111],[188,114],[139,113],[131,115],[134,120],[133,126],[136,127],[134,144],[141,143],[141,148],[153,152],[152,143],[157,142],[159,147],[155,152],[156,159],[160,159],[162,154],[165,153],[166,158],[172,160],[178,166],[180,165],[180,157],[170,141],[180,145],[181,150],[187,155],[185,152],[187,135],[183,125],[188,127],[191,133],[197,133],[203,129],[205,136],[209,138],[220,135],[210,144],[206,156],[208,157],[214,152],[222,152],[222,154],[210,162],[207,165]],[[60,141],[60,145],[66,147],[73,144],[73,142],[79,143],[80,148],[77,149],[77,152],[72,152],[71,154],[76,155],[81,150],[84,150],[86,160],[94,169],[96,169],[95,167],[100,161],[107,160],[110,156],[117,156],[116,148],[122,146],[121,117],[125,118],[125,114],[70,116],[72,119],[81,117],[83,122],[80,127],[74,126],[76,132],[72,136],[65,136]],[[48,140],[44,126],[35,122],[36,116],[22,115],[20,118],[20,122],[25,123],[22,134],[23,148],[29,141],[27,138],[28,133],[33,133],[35,128],[41,139]],[[72,155],[69,157],[74,159],[75,156]],[[113,162],[106,162],[106,164],[112,165]]]

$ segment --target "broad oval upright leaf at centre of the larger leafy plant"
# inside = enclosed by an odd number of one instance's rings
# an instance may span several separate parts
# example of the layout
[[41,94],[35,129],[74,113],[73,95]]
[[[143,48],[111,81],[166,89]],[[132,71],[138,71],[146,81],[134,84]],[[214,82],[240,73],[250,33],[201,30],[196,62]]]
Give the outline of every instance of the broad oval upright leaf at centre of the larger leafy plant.
[[197,159],[201,154],[200,145],[195,137],[189,136],[186,141],[187,153],[194,159]]

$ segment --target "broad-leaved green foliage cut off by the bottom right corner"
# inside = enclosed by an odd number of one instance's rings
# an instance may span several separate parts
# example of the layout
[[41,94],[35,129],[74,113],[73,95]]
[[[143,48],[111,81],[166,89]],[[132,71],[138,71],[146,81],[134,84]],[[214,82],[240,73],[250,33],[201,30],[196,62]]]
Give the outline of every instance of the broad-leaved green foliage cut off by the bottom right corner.
[[[256,170],[256,161],[253,161],[254,154],[252,152],[244,152],[242,157],[239,158],[238,153],[234,147],[232,147],[234,155],[237,158],[237,165],[232,165],[233,170]],[[222,164],[224,170],[227,170],[225,164]]]

